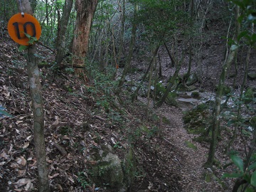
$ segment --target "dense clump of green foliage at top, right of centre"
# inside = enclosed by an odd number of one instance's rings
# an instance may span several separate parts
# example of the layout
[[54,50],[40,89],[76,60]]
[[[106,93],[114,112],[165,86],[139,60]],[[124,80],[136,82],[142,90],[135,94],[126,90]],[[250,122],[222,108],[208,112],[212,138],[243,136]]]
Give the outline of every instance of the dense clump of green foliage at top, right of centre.
[[183,10],[181,1],[139,1],[141,9],[137,18],[143,23],[145,31],[142,34],[153,42],[164,43],[188,22],[188,14]]

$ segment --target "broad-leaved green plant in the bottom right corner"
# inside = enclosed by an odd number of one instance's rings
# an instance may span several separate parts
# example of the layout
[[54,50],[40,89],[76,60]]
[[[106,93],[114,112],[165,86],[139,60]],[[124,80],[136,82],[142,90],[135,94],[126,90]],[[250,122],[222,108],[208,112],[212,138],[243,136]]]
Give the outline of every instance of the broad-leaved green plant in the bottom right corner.
[[239,156],[231,154],[230,159],[237,167],[237,170],[231,174],[223,174],[222,178],[237,178],[238,180],[242,181],[239,188],[237,187],[235,191],[240,191],[239,189],[241,188],[242,191],[245,192],[256,191],[256,153],[252,155],[252,161],[250,162],[251,164],[246,169],[244,169],[244,163]]

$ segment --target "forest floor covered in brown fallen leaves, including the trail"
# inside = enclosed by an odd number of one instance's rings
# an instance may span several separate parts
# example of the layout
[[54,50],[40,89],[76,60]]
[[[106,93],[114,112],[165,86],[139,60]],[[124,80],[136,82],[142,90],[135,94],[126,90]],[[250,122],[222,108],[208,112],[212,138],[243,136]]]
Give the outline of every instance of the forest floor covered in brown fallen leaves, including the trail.
[[[36,191],[33,115],[26,61],[6,34],[0,40],[0,105],[13,115],[12,118],[0,117],[0,191]],[[213,55],[203,60],[203,63],[208,63],[207,70],[203,71],[208,73],[204,75],[203,82],[198,84],[198,87],[207,91],[215,89],[221,65],[215,65],[221,63],[221,42],[214,38],[211,43],[211,47],[203,52],[203,55]],[[46,63],[53,60],[53,53],[42,46],[38,46],[38,52]],[[163,50],[161,53],[164,55]],[[255,56],[253,53],[252,59]],[[193,70],[197,68],[193,65]],[[255,63],[249,68],[255,71]],[[163,71],[164,77],[169,78],[174,69],[164,68]],[[181,73],[185,71],[186,67]],[[196,136],[188,134],[184,128],[181,108],[164,104],[155,111],[151,106],[149,119],[145,121],[144,97],[134,104],[124,102],[123,106],[116,102],[111,107],[117,110],[106,110],[98,105],[102,99],[97,100],[104,94],[93,92],[92,82],[82,82],[66,73],[55,76],[48,68],[41,69],[41,78],[52,191],[89,191],[88,188],[83,189],[78,181],[78,173],[86,172],[93,164],[86,161],[85,156],[90,155],[95,146],[110,144],[122,158],[129,146],[127,138],[130,132],[134,133],[132,144],[137,159],[137,176],[130,191],[231,191],[234,180],[219,180],[224,172],[232,169],[222,169],[224,164],[230,162],[229,156],[223,154],[230,133],[223,133],[226,134],[225,139],[216,151],[220,166],[204,169],[209,144],[193,142]],[[242,73],[238,80],[242,80]],[[228,83],[232,82],[233,79],[230,79]],[[247,86],[255,87],[255,81],[249,81]],[[139,132],[139,127],[144,126],[149,131]],[[158,129],[154,130],[154,127]],[[63,146],[67,156],[54,143]],[[189,147],[188,143],[193,143],[196,148]],[[242,151],[242,148],[242,142],[238,139],[235,149]],[[100,188],[99,191],[106,190]]]

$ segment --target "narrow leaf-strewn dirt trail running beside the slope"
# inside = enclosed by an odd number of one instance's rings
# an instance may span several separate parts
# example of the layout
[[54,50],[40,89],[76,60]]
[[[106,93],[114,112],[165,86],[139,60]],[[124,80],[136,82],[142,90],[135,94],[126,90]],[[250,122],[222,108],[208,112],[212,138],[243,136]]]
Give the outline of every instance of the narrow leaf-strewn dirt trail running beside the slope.
[[[163,105],[158,112],[171,122],[169,125],[164,124],[164,139],[174,145],[179,153],[174,158],[179,164],[182,191],[223,191],[216,181],[205,181],[206,173],[210,172],[209,169],[203,168],[208,149],[192,141],[193,134],[188,134],[184,129],[182,111],[176,107]],[[193,143],[197,149],[188,147],[186,142]]]

